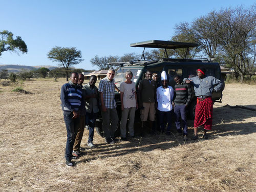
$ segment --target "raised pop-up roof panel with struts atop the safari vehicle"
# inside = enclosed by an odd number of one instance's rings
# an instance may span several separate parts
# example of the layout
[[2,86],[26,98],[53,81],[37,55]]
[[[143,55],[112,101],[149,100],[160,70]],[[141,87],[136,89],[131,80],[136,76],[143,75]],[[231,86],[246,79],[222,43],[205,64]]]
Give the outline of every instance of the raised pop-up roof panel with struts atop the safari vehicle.
[[[180,48],[187,48],[185,58],[188,54],[190,47],[198,47],[199,44],[191,43],[191,42],[177,42],[177,41],[168,41],[168,40],[147,40],[142,42],[135,42],[134,44],[131,44],[130,47],[144,47],[144,50],[142,52],[140,60],[142,60],[142,57],[145,60],[144,51],[145,48],[158,48],[158,49],[164,49],[163,58],[166,55],[167,58],[169,58],[166,49],[180,49]],[[184,58],[184,59],[185,59]]]

